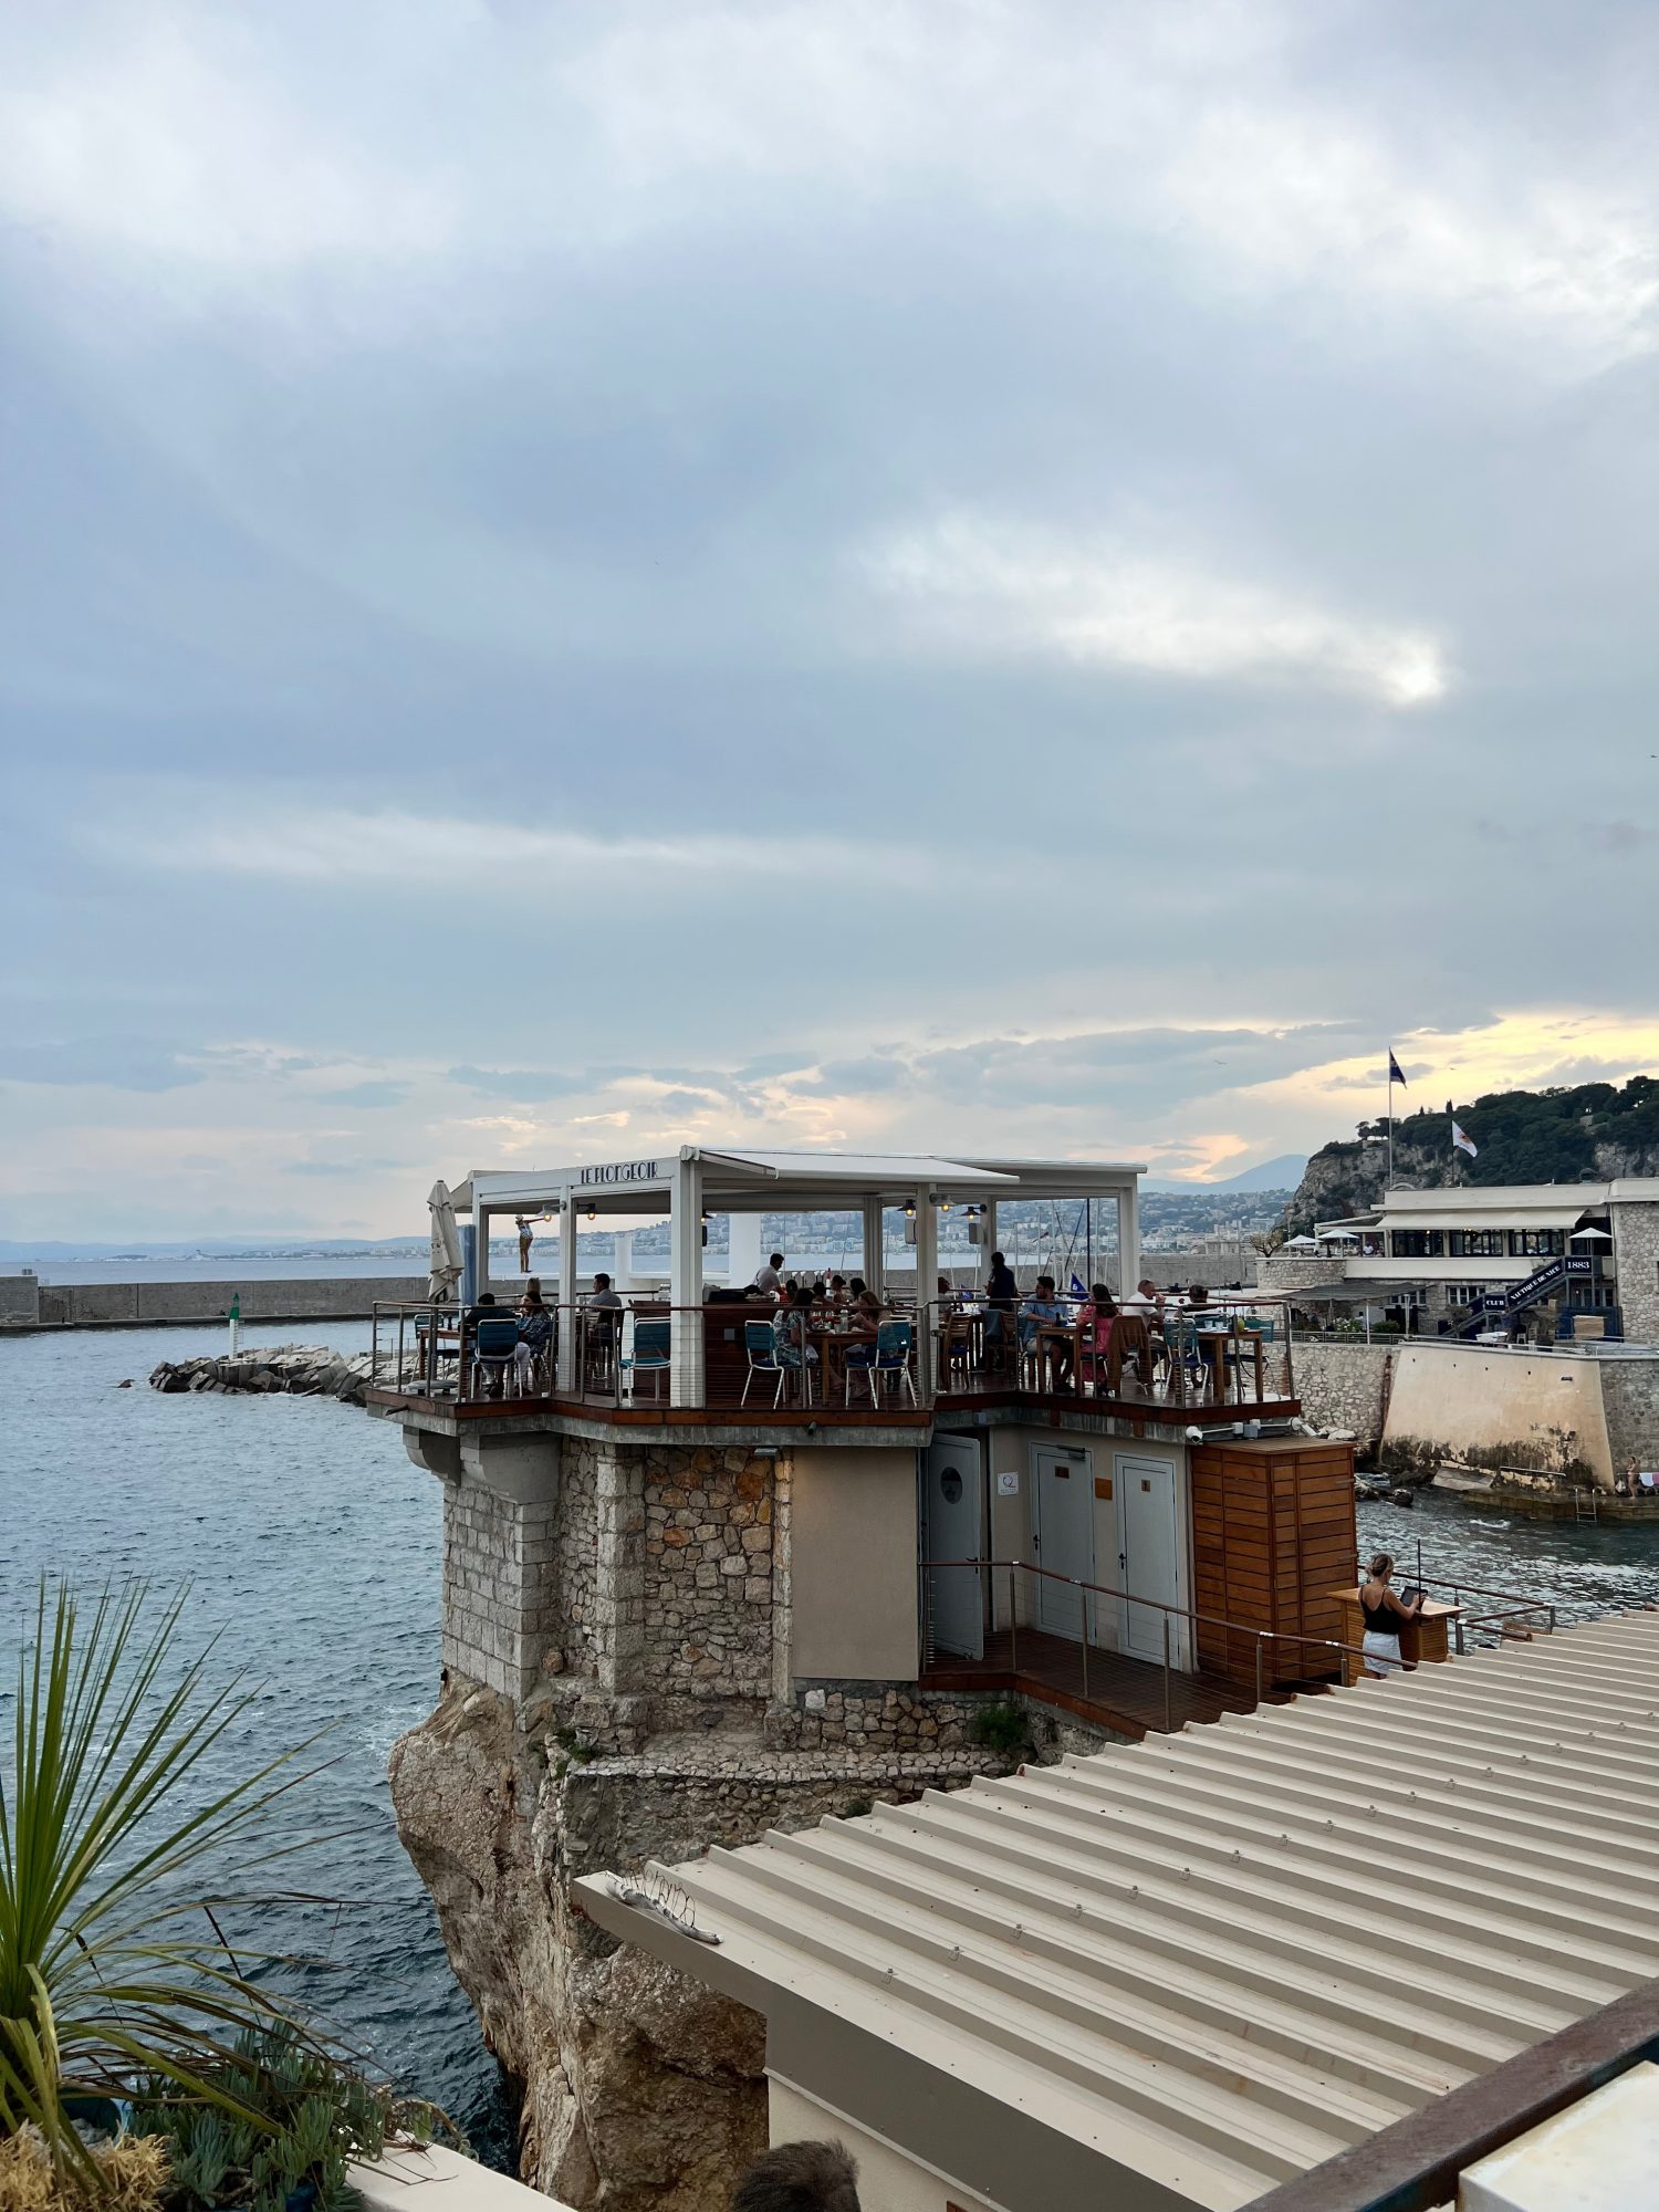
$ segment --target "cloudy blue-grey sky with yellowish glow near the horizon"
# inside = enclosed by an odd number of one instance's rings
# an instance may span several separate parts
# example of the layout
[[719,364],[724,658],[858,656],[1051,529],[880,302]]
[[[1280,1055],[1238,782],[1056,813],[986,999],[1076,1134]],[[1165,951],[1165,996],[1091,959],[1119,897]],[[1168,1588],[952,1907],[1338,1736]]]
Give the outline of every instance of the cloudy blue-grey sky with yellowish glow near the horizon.
[[0,1234],[1659,1064],[1659,11],[0,15]]

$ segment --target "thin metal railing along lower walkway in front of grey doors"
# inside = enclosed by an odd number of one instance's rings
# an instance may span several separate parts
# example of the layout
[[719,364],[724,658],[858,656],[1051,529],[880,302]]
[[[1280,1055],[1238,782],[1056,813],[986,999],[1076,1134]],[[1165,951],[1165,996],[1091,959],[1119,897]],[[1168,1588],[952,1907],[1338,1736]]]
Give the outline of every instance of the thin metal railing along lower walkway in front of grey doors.
[[[975,1593],[978,1593],[978,1601],[980,1601],[980,1637],[975,1641],[982,1644],[984,1641],[984,1632],[989,1632],[991,1639],[995,1639],[1002,1630],[1006,1630],[1006,1637],[1009,1637],[1006,1666],[1002,1663],[1000,1657],[998,1659],[984,1659],[984,1657],[975,1659],[971,1655],[956,1655],[956,1652],[949,1655],[945,1661],[940,1661],[938,1615],[936,1615],[936,1597],[938,1597],[936,1577],[938,1575],[947,1575],[947,1573],[960,1573],[960,1575],[973,1575],[975,1577]],[[1006,1608],[998,1606],[995,1582],[987,1579],[987,1577],[995,1577],[995,1575],[1006,1575],[1009,1577],[1009,1601],[1006,1601]],[[1022,1582],[1022,1577],[1024,1577],[1024,1582]],[[1060,1610],[1060,1613],[1055,1613],[1055,1615],[1048,1617],[1048,1624],[1044,1624],[1042,1601],[1037,1601],[1035,1608],[1033,1608],[1031,1595],[1026,1595],[1024,1619],[1020,1619],[1020,1593],[1022,1593],[1022,1588],[1026,1593],[1031,1593],[1033,1588],[1037,1593],[1042,1593],[1046,1588],[1046,1590],[1051,1590],[1055,1595],[1060,1595],[1060,1593],[1075,1593],[1075,1601],[1077,1601],[1075,1617],[1068,1621],[1066,1613]],[[989,1599],[989,1604],[987,1604],[987,1599]],[[1157,1615],[1157,1619],[1159,1619],[1159,1646],[1161,1646],[1159,1657],[1148,1659],[1146,1655],[1135,1652],[1135,1650],[1121,1650],[1117,1646],[1110,1646],[1110,1648],[1102,1646],[1097,1641],[1099,1599],[1106,1599],[1113,1606],[1126,1606],[1126,1608],[1128,1606],[1141,1606],[1146,1613]],[[1033,1613],[1035,1613],[1035,1617],[1033,1617]],[[967,1670],[967,1668],[980,1666],[980,1668],[984,1668],[987,1677],[1004,1677],[1004,1674],[1006,1677],[1018,1677],[1020,1672],[1026,1672],[1026,1674],[1031,1674],[1037,1681],[1037,1688],[1042,1688],[1040,1672],[1035,1668],[1026,1668],[1026,1670],[1020,1668],[1020,1630],[1024,1628],[1024,1632],[1026,1632],[1029,1639],[1033,1635],[1057,1637],[1062,1644],[1071,1644],[1071,1646],[1077,1648],[1077,1666],[1079,1666],[1079,1683],[1082,1683],[1079,1697],[1084,1701],[1091,1701],[1091,1690],[1088,1690],[1091,1650],[1093,1650],[1093,1657],[1095,1657],[1097,1672],[1102,1668],[1102,1661],[1106,1661],[1110,1666],[1113,1661],[1121,1661],[1121,1659],[1135,1659],[1141,1666],[1161,1666],[1161,1672],[1164,1672],[1164,1734],[1172,1734],[1175,1732],[1175,1677],[1177,1674],[1206,1672],[1210,1679],[1214,1679],[1217,1674],[1221,1674],[1228,1681],[1232,1681],[1234,1686],[1239,1683],[1239,1674],[1232,1672],[1232,1644],[1234,1644],[1234,1639],[1243,1639],[1243,1648],[1250,1652],[1250,1661],[1248,1661],[1243,1681],[1245,1681],[1245,1686],[1254,1688],[1254,1703],[1250,1708],[1245,1708],[1245,1710],[1254,1710],[1256,1705],[1261,1705],[1263,1699],[1265,1699],[1265,1692],[1270,1688],[1276,1690],[1281,1683],[1287,1683],[1287,1681],[1318,1681],[1318,1679],[1323,1679],[1314,1668],[1307,1668],[1307,1666],[1298,1668],[1298,1672],[1285,1672],[1283,1668],[1279,1668],[1276,1659],[1279,1659],[1281,1648],[1287,1650],[1287,1648],[1294,1646],[1296,1652],[1298,1652],[1298,1657],[1305,1655],[1305,1652],[1318,1652],[1318,1655],[1327,1655],[1327,1657],[1334,1655],[1336,1663],[1327,1666],[1327,1674],[1329,1672],[1334,1672],[1334,1674],[1343,1672],[1343,1657],[1354,1657],[1354,1659],[1360,1659],[1360,1661],[1365,1659],[1365,1650],[1358,1644],[1345,1644],[1340,1637],[1310,1637],[1310,1635],[1301,1635],[1296,1630],[1285,1630],[1285,1628],[1252,1628],[1245,1621],[1230,1621],[1230,1619],[1225,1619],[1225,1617],[1221,1617],[1217,1613],[1197,1613],[1192,1606],[1172,1606],[1172,1604],[1166,1604],[1164,1599],[1157,1599],[1157,1597],[1139,1597],[1135,1590],[1115,1590],[1115,1588],[1110,1588],[1104,1582],[1082,1582],[1077,1575],[1060,1575],[1060,1573],[1055,1573],[1048,1566],[1035,1566],[1035,1564],[1031,1564],[1026,1559],[925,1559],[922,1566],[920,1566],[920,1628],[922,1628],[922,1655],[920,1655],[922,1657],[922,1674],[927,1674],[929,1670],[936,1670],[940,1663],[951,1666],[953,1670]],[[1210,1637],[1206,1637],[1203,1630],[1210,1630]],[[1186,1637],[1186,1641],[1183,1641],[1183,1637]],[[1221,1666],[1201,1670],[1199,1668],[1199,1659],[1201,1659],[1203,1646],[1208,1641],[1210,1648],[1214,1650],[1217,1639],[1223,1639]],[[1031,1646],[1029,1646],[1029,1655],[1031,1655]],[[1409,1670],[1409,1661],[1407,1661],[1407,1670]],[[1062,1686],[1060,1683],[1048,1683],[1048,1688],[1062,1688]],[[1106,1699],[1106,1701],[1110,1703],[1110,1699]]]

